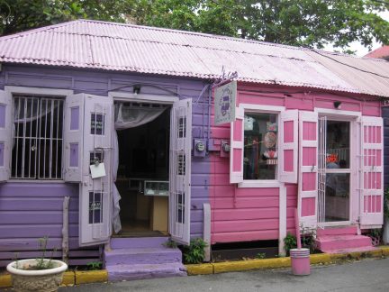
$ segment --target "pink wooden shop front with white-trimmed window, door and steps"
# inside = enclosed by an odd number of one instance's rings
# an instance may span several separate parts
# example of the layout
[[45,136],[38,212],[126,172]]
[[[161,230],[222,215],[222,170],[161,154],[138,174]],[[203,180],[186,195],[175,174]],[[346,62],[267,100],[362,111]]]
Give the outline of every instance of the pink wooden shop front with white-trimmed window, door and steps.
[[298,208],[321,251],[372,249],[361,232],[383,224],[381,103],[242,82],[237,92],[235,122],[213,126],[231,151],[211,157],[212,242],[279,239],[282,253]]

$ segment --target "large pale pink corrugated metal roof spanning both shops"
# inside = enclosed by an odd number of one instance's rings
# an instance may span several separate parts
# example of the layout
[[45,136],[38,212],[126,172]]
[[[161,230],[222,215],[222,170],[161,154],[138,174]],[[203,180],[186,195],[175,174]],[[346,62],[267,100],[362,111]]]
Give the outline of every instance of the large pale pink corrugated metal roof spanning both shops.
[[2,62],[195,78],[218,78],[224,67],[237,71],[241,81],[370,94],[307,52],[267,42],[87,20],[0,38]]

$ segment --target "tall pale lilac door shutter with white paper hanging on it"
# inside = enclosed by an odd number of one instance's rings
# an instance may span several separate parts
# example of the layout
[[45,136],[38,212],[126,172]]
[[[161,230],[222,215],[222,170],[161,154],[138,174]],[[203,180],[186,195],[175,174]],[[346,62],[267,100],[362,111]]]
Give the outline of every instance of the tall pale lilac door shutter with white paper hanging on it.
[[[84,143],[79,197],[79,245],[109,241],[112,207],[113,98],[84,96]],[[104,164],[105,176],[92,178],[91,164]]]

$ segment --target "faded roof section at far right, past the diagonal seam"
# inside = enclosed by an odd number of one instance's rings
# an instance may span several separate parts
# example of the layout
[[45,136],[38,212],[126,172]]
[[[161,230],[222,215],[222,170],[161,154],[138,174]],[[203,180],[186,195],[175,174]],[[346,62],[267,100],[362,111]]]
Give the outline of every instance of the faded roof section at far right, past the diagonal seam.
[[361,93],[389,97],[389,62],[384,59],[357,58],[324,51],[310,51],[308,54]]

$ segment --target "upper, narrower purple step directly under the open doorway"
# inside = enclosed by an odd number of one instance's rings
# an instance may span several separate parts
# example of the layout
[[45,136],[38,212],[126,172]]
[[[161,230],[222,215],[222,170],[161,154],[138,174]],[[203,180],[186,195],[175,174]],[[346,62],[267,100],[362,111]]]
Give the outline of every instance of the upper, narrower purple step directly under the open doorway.
[[127,248],[158,248],[167,242],[168,237],[113,237],[111,238],[111,249]]

